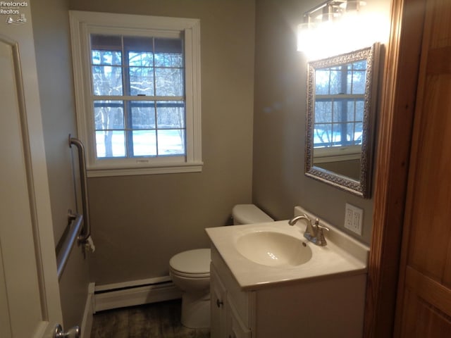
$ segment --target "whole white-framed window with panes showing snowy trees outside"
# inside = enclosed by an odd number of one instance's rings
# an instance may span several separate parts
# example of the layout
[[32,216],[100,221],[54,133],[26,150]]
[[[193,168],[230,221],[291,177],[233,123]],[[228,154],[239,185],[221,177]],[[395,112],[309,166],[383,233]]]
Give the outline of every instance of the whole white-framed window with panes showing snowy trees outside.
[[202,170],[198,19],[70,11],[88,176]]

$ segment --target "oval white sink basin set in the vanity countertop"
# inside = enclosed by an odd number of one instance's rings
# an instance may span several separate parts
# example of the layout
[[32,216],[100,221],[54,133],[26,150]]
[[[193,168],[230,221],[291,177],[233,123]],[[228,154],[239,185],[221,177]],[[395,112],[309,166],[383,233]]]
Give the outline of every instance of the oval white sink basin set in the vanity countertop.
[[236,249],[249,261],[261,265],[297,266],[311,258],[311,249],[304,242],[282,232],[256,231],[238,237]]

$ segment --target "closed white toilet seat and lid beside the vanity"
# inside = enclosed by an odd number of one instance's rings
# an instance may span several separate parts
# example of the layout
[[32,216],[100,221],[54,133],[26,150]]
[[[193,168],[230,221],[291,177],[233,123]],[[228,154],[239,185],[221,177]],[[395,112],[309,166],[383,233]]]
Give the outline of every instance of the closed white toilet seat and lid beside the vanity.
[[209,277],[210,254],[210,249],[194,249],[177,253],[169,261],[171,273],[188,278]]

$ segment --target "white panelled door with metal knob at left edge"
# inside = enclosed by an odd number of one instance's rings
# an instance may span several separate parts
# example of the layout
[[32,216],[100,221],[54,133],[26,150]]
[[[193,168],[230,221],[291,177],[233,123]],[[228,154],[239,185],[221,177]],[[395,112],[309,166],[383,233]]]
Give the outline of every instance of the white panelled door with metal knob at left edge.
[[62,322],[30,2],[0,15],[0,337]]

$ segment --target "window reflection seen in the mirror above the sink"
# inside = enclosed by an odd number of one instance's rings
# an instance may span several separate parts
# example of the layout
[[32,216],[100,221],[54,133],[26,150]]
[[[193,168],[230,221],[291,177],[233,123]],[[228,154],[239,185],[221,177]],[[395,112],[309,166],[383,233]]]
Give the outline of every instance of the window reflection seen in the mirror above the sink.
[[366,60],[315,70],[314,148],[362,144]]

